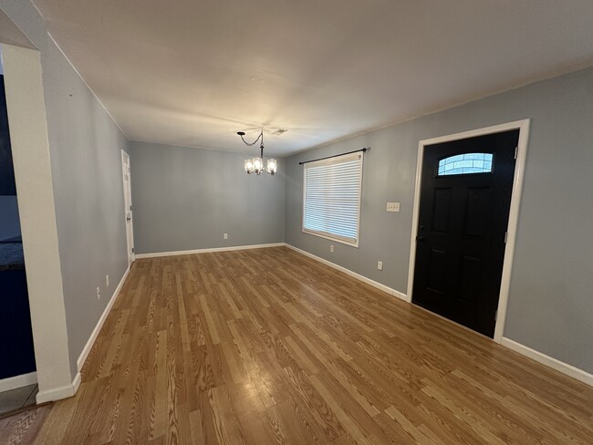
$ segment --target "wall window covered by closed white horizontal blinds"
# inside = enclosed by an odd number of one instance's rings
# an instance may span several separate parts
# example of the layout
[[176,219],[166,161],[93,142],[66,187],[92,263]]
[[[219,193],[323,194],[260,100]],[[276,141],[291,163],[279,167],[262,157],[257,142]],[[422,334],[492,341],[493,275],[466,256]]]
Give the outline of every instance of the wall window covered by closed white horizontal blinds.
[[305,164],[303,232],[359,246],[363,152]]

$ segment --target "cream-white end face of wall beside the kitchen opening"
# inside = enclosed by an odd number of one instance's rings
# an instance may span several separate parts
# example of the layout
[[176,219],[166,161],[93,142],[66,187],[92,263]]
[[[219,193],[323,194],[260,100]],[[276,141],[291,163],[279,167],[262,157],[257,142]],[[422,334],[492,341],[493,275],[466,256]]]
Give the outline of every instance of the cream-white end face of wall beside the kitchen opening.
[[61,394],[72,374],[41,57],[10,45],[2,52],[39,394]]

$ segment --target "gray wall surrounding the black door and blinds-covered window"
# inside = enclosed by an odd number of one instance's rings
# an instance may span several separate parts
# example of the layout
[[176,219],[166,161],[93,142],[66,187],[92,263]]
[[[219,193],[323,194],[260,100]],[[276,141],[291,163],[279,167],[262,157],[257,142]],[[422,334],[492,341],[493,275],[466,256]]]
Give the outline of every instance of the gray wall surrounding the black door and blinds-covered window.
[[[505,336],[593,372],[593,68],[286,159],[286,243],[406,293],[419,140],[532,119]],[[370,146],[360,248],[301,232],[298,161]],[[401,212],[385,212],[386,202]],[[382,272],[376,268],[382,260]]]

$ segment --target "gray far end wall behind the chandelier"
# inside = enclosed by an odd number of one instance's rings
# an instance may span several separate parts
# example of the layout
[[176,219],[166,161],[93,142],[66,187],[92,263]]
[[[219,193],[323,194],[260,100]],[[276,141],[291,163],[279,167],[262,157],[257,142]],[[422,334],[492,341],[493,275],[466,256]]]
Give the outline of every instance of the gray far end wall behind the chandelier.
[[244,172],[240,153],[143,142],[130,149],[137,254],[284,242],[284,160],[276,175],[256,176]]

